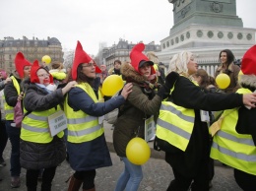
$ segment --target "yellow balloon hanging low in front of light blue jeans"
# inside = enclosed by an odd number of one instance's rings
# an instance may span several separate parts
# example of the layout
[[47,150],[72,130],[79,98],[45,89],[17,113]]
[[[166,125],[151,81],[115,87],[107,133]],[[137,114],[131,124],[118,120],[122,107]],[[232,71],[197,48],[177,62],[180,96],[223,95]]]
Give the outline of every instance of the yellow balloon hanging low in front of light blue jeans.
[[151,149],[144,139],[136,137],[126,146],[126,157],[132,163],[141,165],[150,159]]

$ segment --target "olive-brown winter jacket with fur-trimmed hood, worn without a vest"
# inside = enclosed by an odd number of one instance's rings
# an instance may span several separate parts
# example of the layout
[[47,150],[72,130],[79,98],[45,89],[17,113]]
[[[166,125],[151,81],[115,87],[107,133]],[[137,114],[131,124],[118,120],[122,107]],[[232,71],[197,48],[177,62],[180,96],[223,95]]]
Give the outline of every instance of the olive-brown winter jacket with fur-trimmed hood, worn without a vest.
[[124,64],[121,72],[127,82],[133,82],[133,88],[124,105],[120,107],[113,131],[113,145],[119,157],[126,157],[128,142],[136,136],[144,138],[145,119],[151,115],[158,116],[161,98],[155,96],[154,90],[144,87],[145,78],[131,65]]

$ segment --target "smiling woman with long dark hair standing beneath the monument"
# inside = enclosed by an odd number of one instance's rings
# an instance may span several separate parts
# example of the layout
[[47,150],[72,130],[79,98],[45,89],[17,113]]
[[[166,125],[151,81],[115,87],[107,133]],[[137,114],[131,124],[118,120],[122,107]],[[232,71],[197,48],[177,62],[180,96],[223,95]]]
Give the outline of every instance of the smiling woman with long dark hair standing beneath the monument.
[[229,49],[224,49],[220,52],[219,56],[221,65],[217,68],[217,71],[215,73],[215,78],[219,74],[226,74],[230,78],[230,84],[229,86],[224,89],[224,93],[235,93],[239,88],[238,82],[238,73],[240,72],[239,66],[235,65],[233,63],[234,61],[234,55]]

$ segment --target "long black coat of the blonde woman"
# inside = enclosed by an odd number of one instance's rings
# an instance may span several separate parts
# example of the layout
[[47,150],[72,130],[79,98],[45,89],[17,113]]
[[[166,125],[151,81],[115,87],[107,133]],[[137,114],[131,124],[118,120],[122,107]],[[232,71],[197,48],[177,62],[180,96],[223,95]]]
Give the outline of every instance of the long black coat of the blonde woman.
[[[172,101],[185,108],[193,108],[195,121],[192,135],[185,152],[169,145],[165,160],[184,177],[193,178],[202,170],[208,169],[209,130],[207,123],[201,121],[200,109],[223,110],[243,105],[238,94],[205,94],[189,79],[181,76],[174,85]],[[178,125],[178,124],[177,124]],[[205,172],[207,174],[207,172]]]

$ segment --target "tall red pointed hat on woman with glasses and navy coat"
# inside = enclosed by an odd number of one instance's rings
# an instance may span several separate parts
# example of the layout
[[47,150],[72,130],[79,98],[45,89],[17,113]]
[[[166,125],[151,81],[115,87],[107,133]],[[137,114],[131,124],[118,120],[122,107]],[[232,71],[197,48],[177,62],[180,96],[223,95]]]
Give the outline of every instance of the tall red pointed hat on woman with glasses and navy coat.
[[[77,80],[78,66],[83,63],[88,64],[91,60],[93,60],[93,59],[83,50],[82,44],[78,40],[76,51],[75,51],[73,67],[72,67],[73,80]],[[95,61],[94,61],[94,63],[96,64]],[[96,66],[96,73],[101,73],[101,70],[97,66]]]

